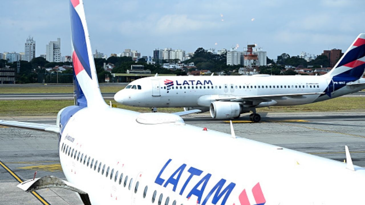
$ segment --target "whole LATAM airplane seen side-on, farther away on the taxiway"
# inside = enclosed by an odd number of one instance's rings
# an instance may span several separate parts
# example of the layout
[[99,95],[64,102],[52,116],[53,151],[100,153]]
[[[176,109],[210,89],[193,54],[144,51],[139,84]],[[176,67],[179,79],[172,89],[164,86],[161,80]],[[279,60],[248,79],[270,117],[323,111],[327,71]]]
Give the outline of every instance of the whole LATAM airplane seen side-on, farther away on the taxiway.
[[132,81],[114,100],[135,107],[184,107],[210,112],[214,119],[239,118],[256,108],[301,105],[365,89],[365,34],[360,34],[323,76],[154,76]]

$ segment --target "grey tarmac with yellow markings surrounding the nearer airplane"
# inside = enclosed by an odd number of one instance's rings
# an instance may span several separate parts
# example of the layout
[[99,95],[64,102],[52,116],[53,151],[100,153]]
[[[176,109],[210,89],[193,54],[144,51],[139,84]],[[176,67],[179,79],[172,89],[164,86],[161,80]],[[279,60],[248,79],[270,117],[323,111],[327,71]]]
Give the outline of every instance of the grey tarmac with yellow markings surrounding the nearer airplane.
[[[365,167],[365,112],[260,114],[261,123],[251,123],[247,116],[235,120],[236,135],[341,162],[345,159],[347,145],[354,164]],[[183,119],[187,124],[202,129],[206,127],[208,132],[214,129],[230,133],[228,121],[212,120],[206,113],[184,116]],[[54,124],[55,116],[12,117],[8,120]],[[57,135],[0,127],[0,141],[0,161],[21,179],[33,178],[35,171],[37,177],[55,175],[64,178],[58,159]],[[17,184],[8,171],[0,168],[0,194],[3,196],[0,204],[41,204],[32,194],[18,189]],[[49,204],[81,204],[71,191],[44,189],[38,193]]]

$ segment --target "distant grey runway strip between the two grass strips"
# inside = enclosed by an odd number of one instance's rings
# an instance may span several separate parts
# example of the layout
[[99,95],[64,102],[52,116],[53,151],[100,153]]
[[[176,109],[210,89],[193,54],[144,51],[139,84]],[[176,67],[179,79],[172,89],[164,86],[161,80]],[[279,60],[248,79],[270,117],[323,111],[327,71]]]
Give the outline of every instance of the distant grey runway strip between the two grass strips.
[[[105,100],[114,99],[115,93],[101,93]],[[365,97],[365,91],[347,94],[343,97]],[[0,100],[72,100],[73,93],[26,93],[0,94]]]

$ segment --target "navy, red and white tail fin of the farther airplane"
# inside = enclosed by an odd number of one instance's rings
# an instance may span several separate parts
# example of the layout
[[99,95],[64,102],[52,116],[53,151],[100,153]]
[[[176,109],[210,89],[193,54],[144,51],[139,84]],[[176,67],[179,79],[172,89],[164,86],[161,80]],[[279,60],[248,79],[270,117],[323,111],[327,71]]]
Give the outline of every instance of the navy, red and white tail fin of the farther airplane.
[[345,54],[328,73],[331,77],[353,78],[355,81],[364,74],[365,69],[365,34],[357,36]]

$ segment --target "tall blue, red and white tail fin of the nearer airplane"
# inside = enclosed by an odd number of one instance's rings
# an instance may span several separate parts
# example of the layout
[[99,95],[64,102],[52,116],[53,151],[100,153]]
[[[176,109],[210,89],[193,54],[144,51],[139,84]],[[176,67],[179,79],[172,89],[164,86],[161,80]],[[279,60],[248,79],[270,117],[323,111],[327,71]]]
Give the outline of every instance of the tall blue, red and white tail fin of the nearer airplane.
[[101,96],[82,0],[70,0],[74,103],[81,107],[107,105]]

